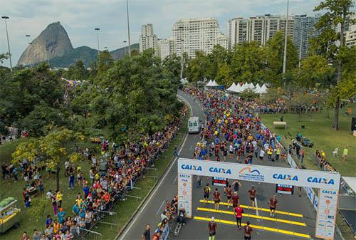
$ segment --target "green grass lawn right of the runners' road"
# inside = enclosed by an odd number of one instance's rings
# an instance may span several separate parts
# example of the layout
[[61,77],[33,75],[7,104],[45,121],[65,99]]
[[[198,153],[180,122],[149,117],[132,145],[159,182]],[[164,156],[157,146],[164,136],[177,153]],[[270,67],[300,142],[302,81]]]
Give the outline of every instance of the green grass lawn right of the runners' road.
[[[352,108],[352,113],[355,115],[356,103],[349,104],[348,108]],[[301,119],[297,114],[285,114],[283,118],[287,122],[287,130],[273,128],[273,121],[279,121],[280,114],[265,114],[261,115],[261,118],[272,132],[282,136],[282,144],[285,147],[290,145],[291,139],[294,139],[298,132],[314,142],[313,148],[305,147],[304,165],[308,169],[318,169],[313,155],[315,150],[324,150],[326,159],[337,172],[340,172],[342,176],[356,177],[356,137],[352,136],[350,131],[351,116],[345,115],[344,111],[345,109],[340,110],[340,130],[338,131],[330,127],[333,124],[333,111],[330,111],[330,118],[327,118],[327,113],[305,114]],[[302,129],[301,125],[305,125],[305,129]],[[342,150],[345,146],[349,150],[346,163],[342,161]],[[339,148],[338,156],[333,157],[332,152],[336,147]]]

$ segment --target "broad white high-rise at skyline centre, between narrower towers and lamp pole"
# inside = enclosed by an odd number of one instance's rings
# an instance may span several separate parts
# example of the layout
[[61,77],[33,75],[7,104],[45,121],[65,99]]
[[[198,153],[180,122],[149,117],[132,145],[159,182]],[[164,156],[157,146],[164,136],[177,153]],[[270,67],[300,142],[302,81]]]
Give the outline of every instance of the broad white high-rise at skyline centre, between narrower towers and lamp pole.
[[196,51],[211,53],[216,43],[224,43],[223,38],[217,39],[221,32],[214,18],[179,20],[172,30],[178,56],[185,52],[194,58]]

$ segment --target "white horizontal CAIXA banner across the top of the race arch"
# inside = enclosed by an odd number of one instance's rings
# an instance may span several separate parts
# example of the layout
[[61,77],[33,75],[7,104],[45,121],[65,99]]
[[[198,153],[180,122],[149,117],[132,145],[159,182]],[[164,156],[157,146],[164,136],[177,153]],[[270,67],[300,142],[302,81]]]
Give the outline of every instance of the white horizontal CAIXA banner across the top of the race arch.
[[243,165],[239,163],[178,159],[178,174],[209,177],[226,177],[251,182],[288,184],[300,187],[316,187],[339,190],[340,174],[287,167]]

